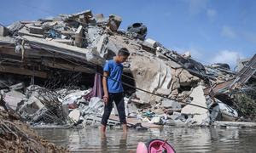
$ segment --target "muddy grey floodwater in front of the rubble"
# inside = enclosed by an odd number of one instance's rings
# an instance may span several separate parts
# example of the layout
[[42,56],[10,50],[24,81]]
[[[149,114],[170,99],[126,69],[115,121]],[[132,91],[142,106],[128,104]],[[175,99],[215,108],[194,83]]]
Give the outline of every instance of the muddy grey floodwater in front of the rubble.
[[97,128],[44,129],[38,134],[49,141],[79,152],[131,152],[137,142],[168,139],[177,152],[256,152],[256,129],[165,127],[148,131],[108,129],[102,138]]

